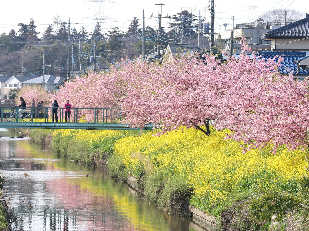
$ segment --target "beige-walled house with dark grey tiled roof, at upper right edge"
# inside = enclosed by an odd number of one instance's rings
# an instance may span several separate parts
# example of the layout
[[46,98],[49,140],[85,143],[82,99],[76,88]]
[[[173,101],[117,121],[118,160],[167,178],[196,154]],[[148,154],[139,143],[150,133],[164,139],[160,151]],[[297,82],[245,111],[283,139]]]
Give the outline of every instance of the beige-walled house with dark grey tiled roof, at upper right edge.
[[309,52],[309,15],[283,27],[267,31],[261,37],[271,42],[272,51]]

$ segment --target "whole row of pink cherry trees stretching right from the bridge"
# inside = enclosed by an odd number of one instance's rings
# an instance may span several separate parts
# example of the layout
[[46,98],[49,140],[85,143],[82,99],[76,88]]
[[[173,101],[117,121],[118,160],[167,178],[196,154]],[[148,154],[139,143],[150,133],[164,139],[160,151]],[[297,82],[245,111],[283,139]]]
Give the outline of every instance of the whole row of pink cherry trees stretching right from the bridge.
[[162,64],[123,60],[108,73],[67,82],[55,97],[75,107],[120,107],[122,123],[153,123],[162,128],[159,134],[180,126],[209,134],[212,121],[216,129],[233,131],[228,138],[251,147],[306,145],[308,80],[278,73],[282,57],[256,57],[241,43],[239,58],[223,52],[225,60],[191,53],[165,57]]

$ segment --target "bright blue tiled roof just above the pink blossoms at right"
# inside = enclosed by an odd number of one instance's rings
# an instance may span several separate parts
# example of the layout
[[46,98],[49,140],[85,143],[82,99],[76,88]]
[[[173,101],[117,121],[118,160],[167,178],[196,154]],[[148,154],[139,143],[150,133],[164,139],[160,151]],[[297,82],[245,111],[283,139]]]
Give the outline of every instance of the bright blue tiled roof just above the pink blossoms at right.
[[[260,51],[258,52],[258,55],[260,55],[260,58],[268,59],[273,58],[277,55],[284,58],[284,60],[281,62],[281,66],[279,67],[279,72],[282,74],[288,74],[290,73],[287,69],[291,69],[293,71],[293,75],[307,75],[309,76],[309,69],[303,69],[302,66],[297,65],[297,61],[300,61],[304,58],[309,57],[309,55],[306,52],[265,52]],[[276,61],[278,58],[276,58]],[[298,70],[297,70],[298,68]]]

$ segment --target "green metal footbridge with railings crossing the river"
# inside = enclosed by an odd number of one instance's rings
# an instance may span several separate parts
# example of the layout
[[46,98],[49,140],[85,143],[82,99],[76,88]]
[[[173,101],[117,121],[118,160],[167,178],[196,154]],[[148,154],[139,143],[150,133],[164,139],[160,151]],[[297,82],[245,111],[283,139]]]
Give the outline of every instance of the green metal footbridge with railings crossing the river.
[[[32,119],[25,122],[17,119],[13,122],[7,120],[6,115],[15,111],[18,107],[0,107],[0,128],[40,128],[40,129],[118,129],[118,130],[140,130],[131,128],[129,124],[121,124],[124,114],[117,108],[70,108],[70,122],[65,122],[66,108],[57,108],[58,122],[52,122],[51,107],[27,107],[26,111],[31,112]],[[54,121],[56,119],[54,118]],[[152,130],[153,124],[145,125],[143,130]]]

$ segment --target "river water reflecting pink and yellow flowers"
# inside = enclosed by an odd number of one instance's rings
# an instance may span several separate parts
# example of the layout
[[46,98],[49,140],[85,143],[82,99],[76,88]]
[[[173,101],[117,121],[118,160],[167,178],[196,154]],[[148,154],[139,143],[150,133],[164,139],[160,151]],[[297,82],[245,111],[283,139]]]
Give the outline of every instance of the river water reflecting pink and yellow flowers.
[[[205,231],[190,218],[168,216],[100,169],[57,155],[0,128],[0,171],[16,230]],[[88,175],[88,176],[87,176]]]

